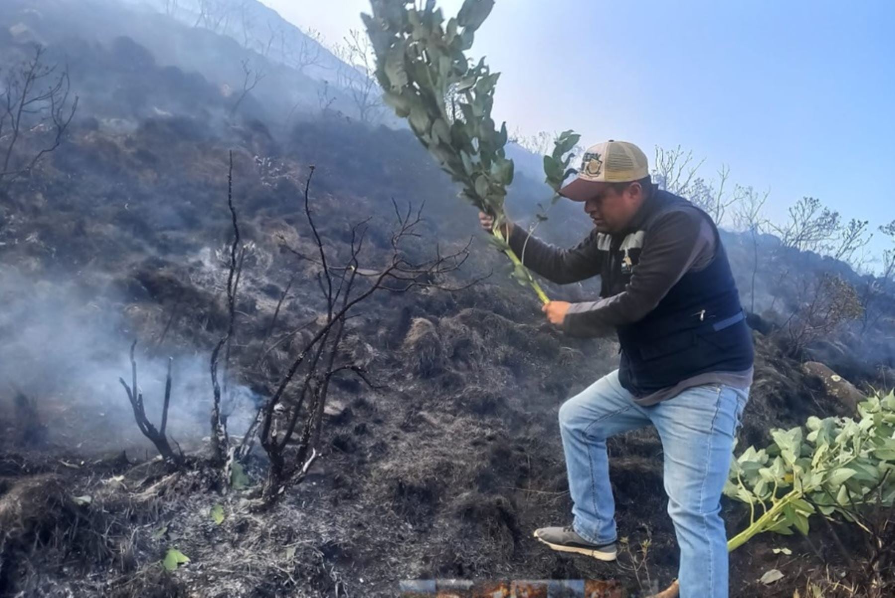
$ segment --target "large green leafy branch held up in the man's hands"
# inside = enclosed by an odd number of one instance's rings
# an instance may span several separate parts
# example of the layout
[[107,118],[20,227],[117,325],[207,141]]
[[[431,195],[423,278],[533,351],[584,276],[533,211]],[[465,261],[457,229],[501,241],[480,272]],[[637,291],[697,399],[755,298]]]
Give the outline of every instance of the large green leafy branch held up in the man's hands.
[[[383,100],[407,119],[441,169],[463,185],[460,196],[495,218],[490,241],[513,262],[514,278],[547,303],[547,295],[502,234],[514,165],[504,149],[507,124],[497,129],[491,117],[500,73],[491,73],[484,58],[473,63],[465,55],[494,1],[466,0],[447,22],[434,0],[422,7],[412,0],[372,0],[371,5],[372,14],[362,18],[376,56]],[[573,172],[567,170],[571,155],[564,156],[578,139],[570,131],[563,133],[553,153],[544,158],[547,183],[554,191]]]

